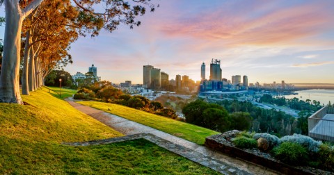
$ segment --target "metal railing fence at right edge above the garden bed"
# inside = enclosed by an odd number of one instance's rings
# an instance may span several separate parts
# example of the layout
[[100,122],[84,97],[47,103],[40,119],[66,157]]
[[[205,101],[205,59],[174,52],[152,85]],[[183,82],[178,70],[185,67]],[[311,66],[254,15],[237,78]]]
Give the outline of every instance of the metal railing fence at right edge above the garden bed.
[[333,114],[333,107],[324,106],[308,117],[308,135],[311,138],[334,142],[334,120],[324,119],[328,114]]

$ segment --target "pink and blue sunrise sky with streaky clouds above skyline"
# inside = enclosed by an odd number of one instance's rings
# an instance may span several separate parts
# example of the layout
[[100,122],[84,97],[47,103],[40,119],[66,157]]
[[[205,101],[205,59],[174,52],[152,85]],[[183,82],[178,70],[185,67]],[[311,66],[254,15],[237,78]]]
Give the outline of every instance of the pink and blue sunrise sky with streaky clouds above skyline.
[[143,83],[143,65],[153,65],[170,79],[180,74],[198,81],[202,63],[209,78],[214,58],[223,78],[334,83],[333,0],[152,1],[159,8],[139,17],[141,26],[79,38],[65,70],[86,73],[94,64],[102,80]]

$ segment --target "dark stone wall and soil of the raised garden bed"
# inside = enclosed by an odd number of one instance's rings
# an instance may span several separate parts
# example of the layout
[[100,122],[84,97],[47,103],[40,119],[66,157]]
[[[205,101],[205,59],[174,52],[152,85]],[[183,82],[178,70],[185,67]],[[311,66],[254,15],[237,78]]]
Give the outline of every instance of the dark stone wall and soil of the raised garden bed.
[[333,174],[321,169],[312,167],[291,166],[282,163],[280,160],[273,158],[271,154],[262,152],[257,148],[254,149],[239,149],[230,141],[235,138],[241,131],[228,131],[218,135],[212,135],[205,139],[205,146],[211,149],[221,151],[230,156],[248,160],[252,163],[269,167],[283,174]]

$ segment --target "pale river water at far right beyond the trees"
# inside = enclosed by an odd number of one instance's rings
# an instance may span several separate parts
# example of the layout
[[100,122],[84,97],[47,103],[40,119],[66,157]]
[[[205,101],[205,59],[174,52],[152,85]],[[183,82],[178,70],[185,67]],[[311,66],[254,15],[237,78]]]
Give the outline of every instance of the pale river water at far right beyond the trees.
[[334,103],[334,90],[299,90],[295,91],[297,95],[285,95],[287,99],[293,99],[294,97],[305,101],[306,99],[310,99],[311,101],[320,101],[322,104],[328,104],[328,101]]

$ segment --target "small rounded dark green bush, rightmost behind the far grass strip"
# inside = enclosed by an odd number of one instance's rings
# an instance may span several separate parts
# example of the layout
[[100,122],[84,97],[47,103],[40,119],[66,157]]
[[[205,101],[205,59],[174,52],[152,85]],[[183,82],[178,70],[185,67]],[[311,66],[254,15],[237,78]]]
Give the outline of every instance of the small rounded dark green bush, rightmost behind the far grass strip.
[[249,130],[252,124],[252,117],[249,113],[235,112],[230,114],[232,117],[232,129],[237,129],[239,131]]

